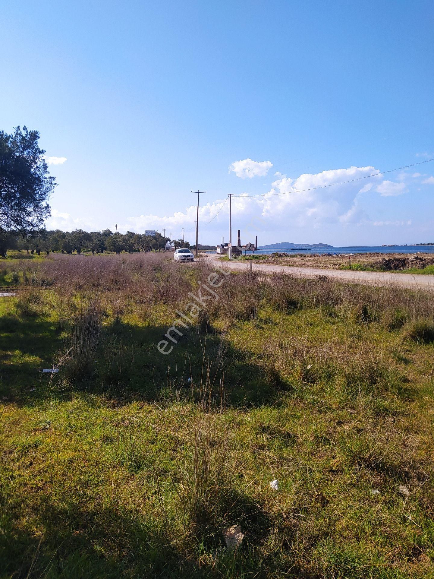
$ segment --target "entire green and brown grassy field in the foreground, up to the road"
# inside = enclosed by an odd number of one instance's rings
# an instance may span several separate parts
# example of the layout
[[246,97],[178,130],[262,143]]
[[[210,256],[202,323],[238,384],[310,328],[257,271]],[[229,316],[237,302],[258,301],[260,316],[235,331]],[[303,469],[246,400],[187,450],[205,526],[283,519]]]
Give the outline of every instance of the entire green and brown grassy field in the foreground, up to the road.
[[433,294],[218,272],[165,356],[209,264],[2,267],[2,579],[433,577]]

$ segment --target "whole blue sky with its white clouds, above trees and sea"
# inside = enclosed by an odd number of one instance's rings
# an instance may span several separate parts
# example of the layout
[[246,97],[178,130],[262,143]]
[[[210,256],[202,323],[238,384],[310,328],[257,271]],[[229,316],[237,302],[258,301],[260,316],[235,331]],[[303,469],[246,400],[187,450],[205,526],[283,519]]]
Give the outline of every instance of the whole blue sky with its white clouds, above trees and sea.
[[304,191],[434,157],[432,2],[14,0],[0,19],[0,127],[58,157],[47,227],[193,240],[200,188],[202,243],[227,241],[227,193],[243,242],[434,241],[434,162]]

